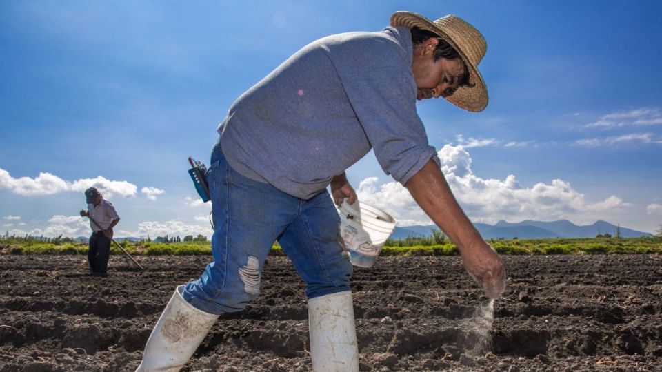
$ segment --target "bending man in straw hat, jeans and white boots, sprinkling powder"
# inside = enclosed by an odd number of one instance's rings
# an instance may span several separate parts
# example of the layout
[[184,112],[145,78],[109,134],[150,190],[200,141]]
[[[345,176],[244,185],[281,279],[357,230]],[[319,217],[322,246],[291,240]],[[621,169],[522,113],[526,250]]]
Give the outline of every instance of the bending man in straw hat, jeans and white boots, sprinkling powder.
[[219,125],[207,174],[214,262],[177,287],[138,370],[178,371],[219,314],[245,309],[277,240],[306,284],[312,368],[358,371],[352,265],[334,202],[357,200],[345,169],[371,149],[499,298],[503,263],[455,200],[416,110],[417,99],[439,97],[483,110],[485,50],[481,33],[458,17],[396,12],[382,31],[313,41],[243,93]]

